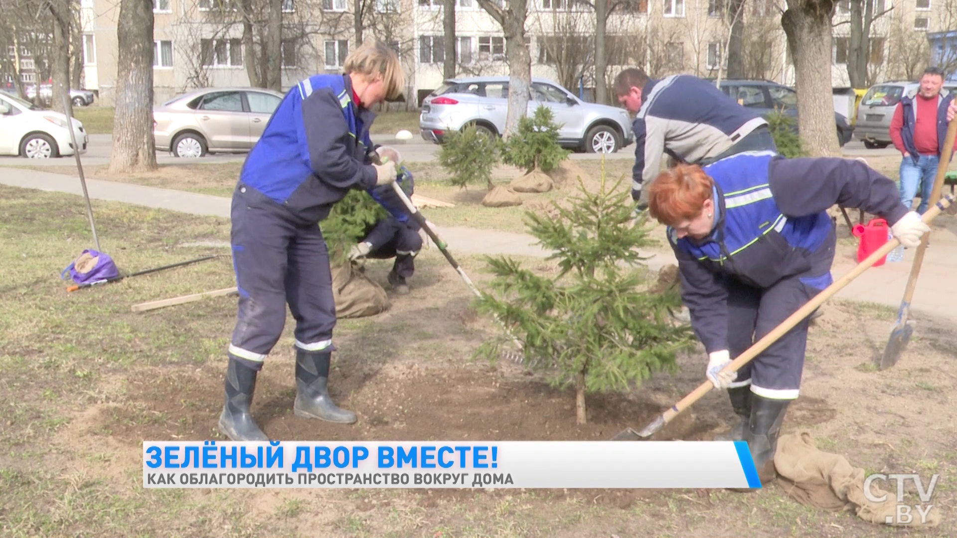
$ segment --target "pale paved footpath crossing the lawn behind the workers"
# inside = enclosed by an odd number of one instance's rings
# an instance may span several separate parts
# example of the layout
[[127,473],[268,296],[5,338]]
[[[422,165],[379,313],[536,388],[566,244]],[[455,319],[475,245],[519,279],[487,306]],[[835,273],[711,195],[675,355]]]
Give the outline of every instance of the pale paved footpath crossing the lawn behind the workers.
[[[28,170],[0,168],[0,183],[14,187],[61,191],[82,195],[78,176]],[[89,179],[90,197],[98,200],[126,202],[150,208],[229,218],[230,200],[188,191],[172,191],[128,183]],[[439,229],[450,251],[478,255],[511,255],[544,258],[545,250],[536,245],[531,235],[513,234],[475,228],[443,226]],[[915,313],[957,319],[957,235],[946,228],[935,227],[932,246],[924,255],[920,280],[914,295]],[[914,253],[908,250],[900,262],[872,267],[837,292],[837,298],[885,304],[897,308],[910,274]],[[646,263],[652,269],[674,263],[670,255],[656,255]],[[851,256],[835,261],[835,280],[855,267]]]

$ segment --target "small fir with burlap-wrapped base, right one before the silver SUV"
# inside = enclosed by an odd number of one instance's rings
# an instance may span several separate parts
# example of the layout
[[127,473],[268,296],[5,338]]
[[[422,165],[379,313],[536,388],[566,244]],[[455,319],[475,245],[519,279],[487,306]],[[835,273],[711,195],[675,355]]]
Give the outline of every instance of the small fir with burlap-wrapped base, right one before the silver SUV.
[[559,125],[546,106],[539,106],[529,118],[519,119],[519,129],[501,148],[502,162],[523,168],[525,173],[538,168],[544,172],[558,168],[571,153],[558,144]]

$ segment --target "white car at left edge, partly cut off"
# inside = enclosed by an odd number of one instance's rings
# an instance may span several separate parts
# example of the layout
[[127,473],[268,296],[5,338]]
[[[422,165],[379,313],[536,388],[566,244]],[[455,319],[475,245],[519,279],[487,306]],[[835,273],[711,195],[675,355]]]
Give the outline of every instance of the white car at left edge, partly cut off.
[[67,125],[72,124],[79,153],[86,153],[89,136],[83,123],[53,110],[0,91],[0,154],[31,159],[49,159],[74,154]]

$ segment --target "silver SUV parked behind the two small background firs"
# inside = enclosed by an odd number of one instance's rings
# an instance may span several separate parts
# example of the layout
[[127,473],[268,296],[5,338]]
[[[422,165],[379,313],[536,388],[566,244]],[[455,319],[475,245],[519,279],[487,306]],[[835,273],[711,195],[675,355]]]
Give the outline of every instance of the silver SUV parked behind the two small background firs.
[[[559,123],[559,143],[590,153],[614,153],[634,142],[632,119],[624,108],[581,101],[560,84],[532,78],[527,114],[547,106]],[[474,124],[499,136],[508,114],[508,77],[450,78],[422,101],[422,138],[441,144],[448,131]]]

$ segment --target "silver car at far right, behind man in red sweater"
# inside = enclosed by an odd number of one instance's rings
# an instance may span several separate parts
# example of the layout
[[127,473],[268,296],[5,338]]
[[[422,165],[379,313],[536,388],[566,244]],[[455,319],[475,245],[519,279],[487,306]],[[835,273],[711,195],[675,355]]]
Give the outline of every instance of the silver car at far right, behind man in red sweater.
[[[857,140],[870,149],[890,146],[894,110],[901,98],[919,85],[909,80],[893,80],[871,86],[857,104],[854,129]],[[957,82],[945,82],[944,89],[947,92],[957,90]]]

